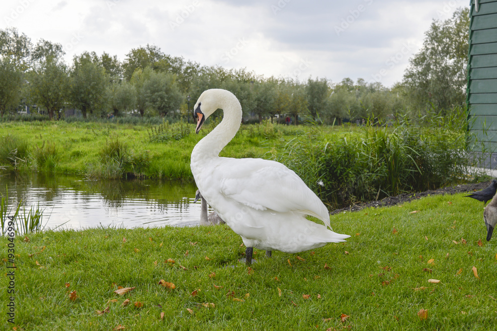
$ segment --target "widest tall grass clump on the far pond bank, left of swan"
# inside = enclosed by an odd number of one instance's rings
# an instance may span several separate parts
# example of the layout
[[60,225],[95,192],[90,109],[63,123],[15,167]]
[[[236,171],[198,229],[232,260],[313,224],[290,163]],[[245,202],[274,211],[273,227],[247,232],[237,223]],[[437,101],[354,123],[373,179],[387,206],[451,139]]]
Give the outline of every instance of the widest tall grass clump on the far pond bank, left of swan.
[[143,177],[149,164],[148,151],[135,152],[116,136],[106,141],[100,151],[100,163],[89,165],[86,176],[102,179]]

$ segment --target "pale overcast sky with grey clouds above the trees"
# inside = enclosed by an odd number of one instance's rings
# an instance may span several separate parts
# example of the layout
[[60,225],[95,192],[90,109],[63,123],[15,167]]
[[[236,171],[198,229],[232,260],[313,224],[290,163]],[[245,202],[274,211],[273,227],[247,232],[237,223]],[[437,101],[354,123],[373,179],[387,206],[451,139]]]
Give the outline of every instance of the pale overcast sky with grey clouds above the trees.
[[433,19],[468,0],[2,0],[1,28],[117,55],[156,45],[204,66],[306,80],[402,80]]

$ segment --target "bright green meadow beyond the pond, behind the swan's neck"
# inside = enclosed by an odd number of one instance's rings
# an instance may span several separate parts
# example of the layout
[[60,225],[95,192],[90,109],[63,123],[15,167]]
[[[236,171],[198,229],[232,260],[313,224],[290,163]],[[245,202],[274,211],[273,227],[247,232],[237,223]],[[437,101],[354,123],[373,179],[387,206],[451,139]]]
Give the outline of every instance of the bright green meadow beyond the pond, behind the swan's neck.
[[[150,142],[150,129],[156,126],[101,122],[5,122],[0,136],[8,134],[27,145],[27,155],[21,157],[27,162],[21,162],[20,169],[84,175],[104,172],[102,152],[106,145],[118,140],[126,147],[125,162],[139,164],[140,168],[135,171],[150,178],[192,179],[191,151],[214,125],[206,125],[198,135],[194,133],[193,124],[185,126],[189,134],[161,142]],[[285,134],[275,134],[273,129],[265,135],[258,125],[243,126],[222,155],[261,157],[270,150],[268,146],[280,146],[302,132],[300,128],[278,127]],[[53,162],[43,158],[49,152],[54,154]],[[45,167],[47,164],[49,169]]]

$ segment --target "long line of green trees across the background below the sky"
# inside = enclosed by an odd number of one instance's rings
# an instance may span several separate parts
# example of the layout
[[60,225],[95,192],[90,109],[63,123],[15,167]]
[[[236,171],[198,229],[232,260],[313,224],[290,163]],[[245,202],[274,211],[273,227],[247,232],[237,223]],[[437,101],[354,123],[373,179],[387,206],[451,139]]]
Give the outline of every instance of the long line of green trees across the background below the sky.
[[107,53],[83,52],[71,64],[61,44],[33,44],[15,28],[0,29],[0,114],[38,105],[50,119],[65,109],[83,117],[190,116],[199,95],[224,88],[239,98],[244,118],[300,118],[339,123],[388,119],[434,109],[445,113],[466,98],[469,10],[433,20],[421,50],[401,82],[344,78],[333,83],[309,77],[264,77],[247,69],[201,66],[166,55],[154,45],[132,49],[124,61]]

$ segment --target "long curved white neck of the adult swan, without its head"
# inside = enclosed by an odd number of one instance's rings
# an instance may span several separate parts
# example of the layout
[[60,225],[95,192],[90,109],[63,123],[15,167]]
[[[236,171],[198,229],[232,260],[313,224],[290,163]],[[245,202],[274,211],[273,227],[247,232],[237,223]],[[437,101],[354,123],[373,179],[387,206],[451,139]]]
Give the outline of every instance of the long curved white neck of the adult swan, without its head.
[[200,140],[191,153],[191,162],[215,158],[233,139],[242,123],[242,106],[236,97],[231,95],[221,100],[219,108],[223,109],[223,121],[209,134]]

